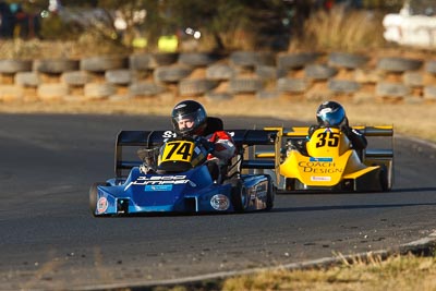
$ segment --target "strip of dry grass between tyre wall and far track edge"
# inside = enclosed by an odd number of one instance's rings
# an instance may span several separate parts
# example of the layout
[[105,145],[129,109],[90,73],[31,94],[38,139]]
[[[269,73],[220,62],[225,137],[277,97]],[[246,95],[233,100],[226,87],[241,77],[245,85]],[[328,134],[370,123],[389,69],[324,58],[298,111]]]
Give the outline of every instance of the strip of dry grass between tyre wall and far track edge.
[[[204,97],[196,100],[204,104],[211,116],[270,117],[283,120],[315,121],[319,101],[302,98],[280,97],[256,99],[253,96],[237,96],[231,100],[211,101]],[[162,96],[124,101],[51,101],[51,102],[0,102],[0,112],[45,112],[45,113],[96,113],[96,114],[153,114],[169,116],[181,98]],[[365,101],[361,104],[341,100],[352,125],[393,124],[396,133],[436,142],[436,102],[431,104],[386,104]],[[254,124],[253,124],[254,125]],[[292,122],[271,124],[292,126]]]

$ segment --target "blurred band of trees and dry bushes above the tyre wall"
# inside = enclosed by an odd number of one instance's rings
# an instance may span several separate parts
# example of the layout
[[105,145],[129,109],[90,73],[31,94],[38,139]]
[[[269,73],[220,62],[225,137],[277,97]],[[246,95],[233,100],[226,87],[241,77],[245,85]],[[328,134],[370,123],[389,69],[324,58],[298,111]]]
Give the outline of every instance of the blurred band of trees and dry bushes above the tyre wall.
[[[157,51],[368,51],[400,45],[404,21],[436,1],[24,0],[0,1],[1,58],[80,58]],[[399,22],[399,23],[398,23]],[[393,28],[392,28],[393,27]],[[427,32],[433,41],[433,31]],[[435,37],[436,39],[436,33]],[[423,47],[423,46],[421,46]],[[90,49],[92,48],[92,49]]]

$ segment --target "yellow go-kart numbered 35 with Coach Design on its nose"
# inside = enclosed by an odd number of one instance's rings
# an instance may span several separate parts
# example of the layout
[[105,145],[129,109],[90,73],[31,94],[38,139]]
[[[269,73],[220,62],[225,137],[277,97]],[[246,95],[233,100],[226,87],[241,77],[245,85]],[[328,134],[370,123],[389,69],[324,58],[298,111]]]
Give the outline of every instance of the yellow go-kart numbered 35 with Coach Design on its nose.
[[[275,160],[278,192],[382,192],[393,180],[392,126],[355,126],[368,140],[368,147],[354,150],[347,135],[336,128],[316,130],[305,140],[308,128],[267,128],[276,131],[275,153],[256,153],[256,158]],[[388,146],[372,137],[390,137]],[[379,140],[379,138],[378,138]],[[374,148],[375,147],[375,148]]]

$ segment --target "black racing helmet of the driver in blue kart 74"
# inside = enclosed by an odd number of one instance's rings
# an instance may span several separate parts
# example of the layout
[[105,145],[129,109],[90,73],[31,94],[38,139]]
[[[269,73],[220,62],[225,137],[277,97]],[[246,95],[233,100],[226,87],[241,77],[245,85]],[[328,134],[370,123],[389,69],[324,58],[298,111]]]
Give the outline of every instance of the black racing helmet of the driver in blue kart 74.
[[[189,129],[179,129],[179,121],[192,119],[194,125]],[[171,113],[171,122],[177,134],[202,135],[207,123],[207,114],[204,107],[194,100],[184,100],[174,106]]]

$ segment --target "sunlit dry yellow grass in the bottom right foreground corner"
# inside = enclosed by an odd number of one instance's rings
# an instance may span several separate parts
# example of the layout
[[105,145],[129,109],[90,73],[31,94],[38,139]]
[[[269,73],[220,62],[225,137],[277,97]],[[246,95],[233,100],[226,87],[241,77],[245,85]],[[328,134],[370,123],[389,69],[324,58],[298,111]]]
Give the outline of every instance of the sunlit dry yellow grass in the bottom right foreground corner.
[[222,290],[436,290],[436,258],[375,257],[320,270],[278,270],[225,281]]

